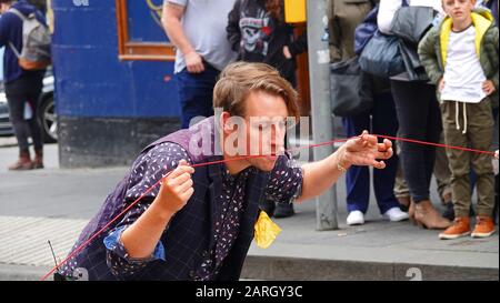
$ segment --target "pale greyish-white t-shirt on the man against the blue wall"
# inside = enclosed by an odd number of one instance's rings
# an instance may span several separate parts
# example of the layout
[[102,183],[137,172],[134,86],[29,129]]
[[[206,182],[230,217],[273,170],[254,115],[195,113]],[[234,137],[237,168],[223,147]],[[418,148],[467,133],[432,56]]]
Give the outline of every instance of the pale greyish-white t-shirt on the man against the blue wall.
[[[227,39],[228,16],[236,0],[164,0],[184,7],[182,29],[194,51],[218,70],[237,58]],[[174,73],[186,68],[178,49]]]

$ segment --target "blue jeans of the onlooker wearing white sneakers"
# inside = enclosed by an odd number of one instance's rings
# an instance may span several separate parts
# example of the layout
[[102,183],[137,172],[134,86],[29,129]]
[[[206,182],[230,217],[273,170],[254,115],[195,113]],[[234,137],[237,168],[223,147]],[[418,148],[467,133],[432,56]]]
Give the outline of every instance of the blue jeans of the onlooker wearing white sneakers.
[[[370,128],[370,117],[371,128]],[[394,137],[398,132],[394,101],[390,92],[374,95],[371,112],[342,119],[348,137],[360,134],[363,130],[370,133]],[[380,213],[386,213],[399,203],[394,196],[394,181],[398,169],[398,156],[384,161],[387,168],[373,169],[373,189]],[[366,213],[370,201],[370,170],[368,166],[351,166],[346,174],[348,212]]]

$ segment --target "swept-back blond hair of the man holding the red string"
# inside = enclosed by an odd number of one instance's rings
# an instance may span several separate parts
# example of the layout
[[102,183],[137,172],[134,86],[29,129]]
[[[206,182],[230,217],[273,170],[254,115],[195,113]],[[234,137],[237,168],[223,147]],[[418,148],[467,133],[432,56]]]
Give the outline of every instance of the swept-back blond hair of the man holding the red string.
[[231,115],[244,117],[247,98],[258,91],[281,97],[288,114],[297,120],[300,118],[297,91],[276,69],[264,63],[229,64],[213,89],[213,108],[222,108]]

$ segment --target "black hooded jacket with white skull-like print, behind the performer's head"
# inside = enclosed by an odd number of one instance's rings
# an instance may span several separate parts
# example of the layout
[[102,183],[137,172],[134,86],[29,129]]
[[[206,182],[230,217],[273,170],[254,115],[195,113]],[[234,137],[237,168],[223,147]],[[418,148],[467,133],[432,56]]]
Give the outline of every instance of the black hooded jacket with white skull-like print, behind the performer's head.
[[[307,34],[296,40],[293,27],[271,17],[264,0],[237,0],[229,13],[227,32],[238,60],[268,63],[296,84],[294,57],[307,50]],[[289,47],[292,59],[284,57],[284,46]]]

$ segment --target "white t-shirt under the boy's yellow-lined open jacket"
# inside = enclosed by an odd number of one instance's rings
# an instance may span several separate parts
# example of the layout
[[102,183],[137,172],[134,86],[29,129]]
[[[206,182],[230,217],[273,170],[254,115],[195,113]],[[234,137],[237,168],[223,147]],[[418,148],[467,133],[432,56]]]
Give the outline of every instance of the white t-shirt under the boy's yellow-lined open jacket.
[[479,103],[486,98],[482,83],[487,80],[476,51],[476,29],[451,32],[444,67],[444,89],[441,100]]

